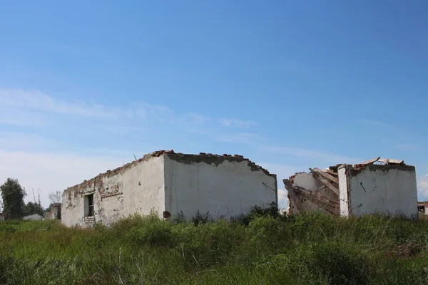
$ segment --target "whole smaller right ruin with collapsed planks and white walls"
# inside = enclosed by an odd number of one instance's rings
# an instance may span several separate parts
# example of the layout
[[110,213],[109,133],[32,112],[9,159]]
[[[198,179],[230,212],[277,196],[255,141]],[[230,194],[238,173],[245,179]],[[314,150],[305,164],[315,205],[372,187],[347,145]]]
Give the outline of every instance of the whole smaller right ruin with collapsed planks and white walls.
[[403,160],[376,157],[357,165],[310,168],[283,182],[289,214],[317,210],[342,217],[374,213],[417,217],[415,167]]

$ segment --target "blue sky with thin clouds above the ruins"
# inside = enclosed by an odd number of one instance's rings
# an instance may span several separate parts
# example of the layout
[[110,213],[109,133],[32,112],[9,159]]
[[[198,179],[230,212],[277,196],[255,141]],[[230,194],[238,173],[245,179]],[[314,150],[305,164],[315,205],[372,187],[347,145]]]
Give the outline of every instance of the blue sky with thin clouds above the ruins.
[[1,180],[47,206],[159,149],[279,180],[382,156],[428,199],[425,1],[90,2],[0,4]]

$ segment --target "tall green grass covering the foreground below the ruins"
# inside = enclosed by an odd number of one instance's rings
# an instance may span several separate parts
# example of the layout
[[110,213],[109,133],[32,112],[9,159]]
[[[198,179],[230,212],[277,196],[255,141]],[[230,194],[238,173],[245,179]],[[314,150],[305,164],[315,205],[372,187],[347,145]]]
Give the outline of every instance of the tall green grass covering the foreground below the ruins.
[[0,223],[0,284],[428,284],[428,222],[380,215]]

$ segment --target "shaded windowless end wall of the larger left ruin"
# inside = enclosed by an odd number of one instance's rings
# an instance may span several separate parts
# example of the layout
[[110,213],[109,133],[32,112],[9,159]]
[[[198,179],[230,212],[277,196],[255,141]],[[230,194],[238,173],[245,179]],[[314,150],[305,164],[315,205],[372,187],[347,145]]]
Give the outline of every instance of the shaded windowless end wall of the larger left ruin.
[[199,209],[214,219],[230,218],[270,202],[277,202],[276,177],[252,171],[246,161],[215,166],[165,157],[165,209],[172,215],[183,211],[191,219]]

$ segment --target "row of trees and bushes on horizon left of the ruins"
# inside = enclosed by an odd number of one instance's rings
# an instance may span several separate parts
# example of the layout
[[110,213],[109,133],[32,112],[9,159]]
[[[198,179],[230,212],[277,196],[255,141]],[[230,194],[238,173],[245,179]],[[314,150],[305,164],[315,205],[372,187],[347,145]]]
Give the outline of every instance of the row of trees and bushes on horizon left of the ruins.
[[15,178],[8,178],[6,182],[0,185],[1,201],[0,201],[0,212],[3,211],[5,219],[21,219],[22,217],[29,216],[31,214],[39,214],[44,217],[45,212],[51,211],[51,207],[55,203],[61,203],[62,194],[60,191],[52,192],[49,194],[49,200],[51,204],[49,207],[44,209],[40,202],[40,191],[38,190],[36,195],[33,190],[34,202],[24,203],[24,197],[27,196],[25,187],[19,184],[19,181]]

